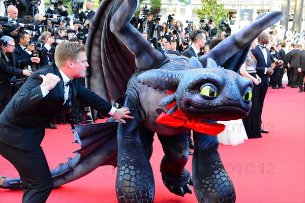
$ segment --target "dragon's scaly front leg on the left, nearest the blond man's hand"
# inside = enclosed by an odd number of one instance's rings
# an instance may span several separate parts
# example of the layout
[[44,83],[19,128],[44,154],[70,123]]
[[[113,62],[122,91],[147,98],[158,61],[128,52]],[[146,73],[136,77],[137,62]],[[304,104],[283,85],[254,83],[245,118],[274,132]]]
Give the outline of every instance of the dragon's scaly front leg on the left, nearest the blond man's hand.
[[125,107],[133,120],[119,123],[117,132],[116,195],[118,202],[153,202],[155,181],[149,157],[141,143],[140,116],[133,101],[126,98]]

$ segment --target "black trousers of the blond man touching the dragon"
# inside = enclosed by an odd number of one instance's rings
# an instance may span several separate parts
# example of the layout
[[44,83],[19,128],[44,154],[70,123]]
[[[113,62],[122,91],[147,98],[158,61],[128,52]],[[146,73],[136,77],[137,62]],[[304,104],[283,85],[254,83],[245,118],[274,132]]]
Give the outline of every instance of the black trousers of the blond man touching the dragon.
[[42,148],[24,151],[0,142],[0,154],[18,171],[23,188],[23,203],[46,202],[53,189],[53,179]]

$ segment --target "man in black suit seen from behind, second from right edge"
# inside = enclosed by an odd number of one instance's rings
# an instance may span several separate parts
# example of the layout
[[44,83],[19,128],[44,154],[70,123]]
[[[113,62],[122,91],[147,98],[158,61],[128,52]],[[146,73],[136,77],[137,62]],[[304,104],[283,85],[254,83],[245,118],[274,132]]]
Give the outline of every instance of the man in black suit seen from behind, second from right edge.
[[301,46],[294,45],[294,49],[289,52],[288,62],[290,64],[290,87],[297,88],[298,69],[301,67]]

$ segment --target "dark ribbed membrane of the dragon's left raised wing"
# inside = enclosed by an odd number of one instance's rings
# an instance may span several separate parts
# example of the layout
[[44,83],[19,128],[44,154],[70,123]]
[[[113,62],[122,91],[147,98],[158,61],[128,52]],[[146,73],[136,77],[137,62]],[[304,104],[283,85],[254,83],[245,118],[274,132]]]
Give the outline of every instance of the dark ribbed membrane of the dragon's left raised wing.
[[86,48],[90,66],[86,86],[110,104],[124,95],[130,77],[135,73],[135,59],[126,46],[110,31],[113,1],[102,1],[92,21]]

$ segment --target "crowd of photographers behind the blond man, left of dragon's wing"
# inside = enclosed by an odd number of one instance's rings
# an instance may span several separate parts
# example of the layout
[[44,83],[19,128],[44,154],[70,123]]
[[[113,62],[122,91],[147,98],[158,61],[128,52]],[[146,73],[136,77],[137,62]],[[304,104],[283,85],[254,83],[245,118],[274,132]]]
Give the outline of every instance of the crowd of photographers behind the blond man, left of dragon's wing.
[[[39,2],[37,2],[39,4]],[[56,46],[63,42],[85,44],[89,21],[95,12],[93,2],[88,0],[85,9],[77,9],[73,21],[68,17],[68,7],[51,0],[45,13],[33,10],[32,1],[13,1],[7,5],[6,14],[0,24],[1,70],[0,109],[4,109],[13,94],[34,71],[55,61]],[[33,6],[33,5],[32,5]],[[80,80],[84,85],[84,79]],[[85,105],[75,101],[70,118],[74,124],[90,123],[85,118]],[[89,114],[88,114],[89,115]],[[99,117],[103,115],[99,113]],[[65,123],[63,115],[50,120],[48,128],[57,128],[55,123]],[[67,118],[69,119],[69,118]]]

